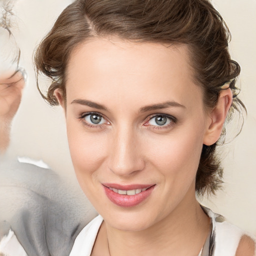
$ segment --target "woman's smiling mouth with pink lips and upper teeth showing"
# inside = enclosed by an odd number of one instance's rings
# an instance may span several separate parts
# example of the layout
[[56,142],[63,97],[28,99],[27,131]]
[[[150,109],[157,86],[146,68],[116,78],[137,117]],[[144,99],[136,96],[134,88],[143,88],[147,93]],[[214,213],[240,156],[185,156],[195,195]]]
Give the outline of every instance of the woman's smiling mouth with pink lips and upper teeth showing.
[[108,199],[122,207],[132,207],[141,203],[155,187],[155,184],[120,185],[103,183],[102,185]]

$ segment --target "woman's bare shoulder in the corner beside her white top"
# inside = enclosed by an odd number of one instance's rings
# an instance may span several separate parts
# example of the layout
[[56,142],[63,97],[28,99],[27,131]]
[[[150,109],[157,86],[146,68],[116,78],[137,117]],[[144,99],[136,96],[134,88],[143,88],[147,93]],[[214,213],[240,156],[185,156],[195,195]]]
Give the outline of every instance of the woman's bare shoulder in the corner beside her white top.
[[239,241],[235,256],[254,256],[255,241],[248,235],[243,235]]

